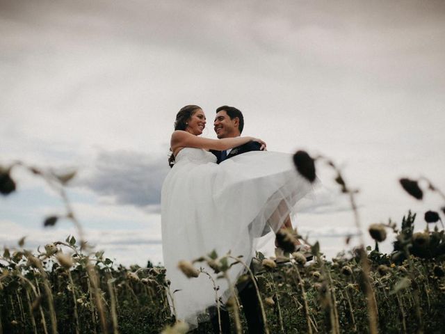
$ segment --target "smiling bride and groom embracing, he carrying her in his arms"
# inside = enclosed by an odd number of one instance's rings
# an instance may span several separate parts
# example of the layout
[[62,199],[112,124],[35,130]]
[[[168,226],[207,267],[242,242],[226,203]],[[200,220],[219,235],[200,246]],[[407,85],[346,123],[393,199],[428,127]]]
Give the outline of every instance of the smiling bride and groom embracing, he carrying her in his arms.
[[[209,312],[215,333],[230,333],[229,315],[223,307],[220,323],[211,280],[201,274],[187,278],[177,268],[181,260],[193,261],[213,250],[242,256],[250,264],[259,238],[291,227],[289,214],[312,186],[296,173],[291,154],[266,151],[259,138],[241,136],[244,118],[232,106],[216,109],[213,127],[218,139],[200,137],[207,124],[204,111],[195,105],[177,113],[172,133],[172,154],[161,193],[163,260],[170,290],[170,305],[177,317],[197,326]],[[213,270],[200,263],[204,271]],[[241,264],[227,272],[229,280],[245,273]],[[223,304],[230,297],[225,280],[213,279]],[[263,333],[259,301],[252,281],[237,285],[249,333]]]

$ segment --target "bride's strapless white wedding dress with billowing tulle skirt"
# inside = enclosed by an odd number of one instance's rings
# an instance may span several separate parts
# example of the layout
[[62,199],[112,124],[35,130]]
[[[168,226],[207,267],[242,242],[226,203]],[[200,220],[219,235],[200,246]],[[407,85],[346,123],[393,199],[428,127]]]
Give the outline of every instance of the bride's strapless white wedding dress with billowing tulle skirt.
[[[231,252],[250,263],[258,239],[278,230],[296,202],[312,191],[298,175],[291,154],[254,151],[216,164],[216,157],[197,148],[184,148],[165,178],[161,193],[163,260],[179,319],[195,326],[197,316],[216,296],[209,277],[186,278],[180,260],[192,261],[216,250]],[[204,267],[216,280],[213,270]],[[241,264],[229,270],[236,282]],[[229,296],[227,282],[216,280],[218,296]],[[172,301],[170,301],[172,306]]]

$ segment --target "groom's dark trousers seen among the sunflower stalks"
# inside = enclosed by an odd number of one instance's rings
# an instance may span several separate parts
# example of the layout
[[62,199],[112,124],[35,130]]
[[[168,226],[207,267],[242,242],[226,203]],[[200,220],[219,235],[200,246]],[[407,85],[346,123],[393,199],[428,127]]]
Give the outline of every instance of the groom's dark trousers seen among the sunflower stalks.
[[[245,283],[241,283],[236,286],[238,289],[239,299],[243,305],[243,311],[245,319],[248,323],[250,334],[262,334],[264,333],[264,321],[261,317],[261,308],[259,306],[259,300],[257,296],[257,291],[255,289],[252,279]],[[220,333],[220,328],[218,324],[218,310],[216,306],[209,308],[210,321],[213,328],[214,334]],[[223,334],[230,334],[230,318],[229,312],[225,309],[220,308],[221,317],[221,331]]]

